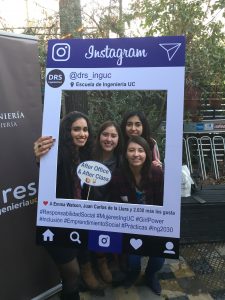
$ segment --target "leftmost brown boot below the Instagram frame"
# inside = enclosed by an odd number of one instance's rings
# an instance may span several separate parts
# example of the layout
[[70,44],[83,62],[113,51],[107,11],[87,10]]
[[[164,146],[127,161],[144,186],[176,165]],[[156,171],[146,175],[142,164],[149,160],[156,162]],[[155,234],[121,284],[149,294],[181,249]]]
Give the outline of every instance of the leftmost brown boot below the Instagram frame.
[[90,290],[102,290],[104,287],[95,277],[91,263],[85,263],[80,266],[81,276],[84,283]]

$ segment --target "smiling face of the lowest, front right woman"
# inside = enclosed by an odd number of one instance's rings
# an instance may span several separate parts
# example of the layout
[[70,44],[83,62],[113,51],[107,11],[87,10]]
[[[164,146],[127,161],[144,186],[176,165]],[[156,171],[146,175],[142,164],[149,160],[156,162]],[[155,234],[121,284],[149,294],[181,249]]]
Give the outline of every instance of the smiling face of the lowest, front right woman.
[[134,142],[128,144],[126,157],[130,167],[142,167],[146,160],[144,148]]

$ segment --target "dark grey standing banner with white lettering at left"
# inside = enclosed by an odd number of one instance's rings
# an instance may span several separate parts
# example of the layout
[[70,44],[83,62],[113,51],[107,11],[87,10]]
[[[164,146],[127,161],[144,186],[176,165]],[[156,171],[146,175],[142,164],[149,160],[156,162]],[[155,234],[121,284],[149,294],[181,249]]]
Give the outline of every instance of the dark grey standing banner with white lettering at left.
[[[36,245],[38,168],[33,142],[41,134],[37,41],[0,32],[0,299],[31,299],[59,280]],[[53,275],[54,274],[54,275]]]

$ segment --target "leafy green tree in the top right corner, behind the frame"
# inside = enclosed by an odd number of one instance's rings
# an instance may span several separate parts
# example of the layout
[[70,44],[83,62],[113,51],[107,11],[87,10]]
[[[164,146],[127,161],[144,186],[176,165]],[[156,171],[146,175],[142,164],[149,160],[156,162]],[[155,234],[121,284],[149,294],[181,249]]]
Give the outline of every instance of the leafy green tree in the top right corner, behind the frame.
[[186,36],[186,97],[208,95],[215,87],[224,92],[224,7],[224,0],[132,1],[127,18],[138,19],[146,35]]

